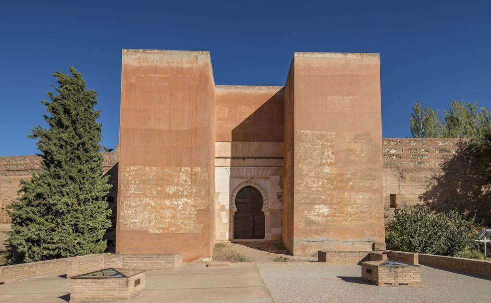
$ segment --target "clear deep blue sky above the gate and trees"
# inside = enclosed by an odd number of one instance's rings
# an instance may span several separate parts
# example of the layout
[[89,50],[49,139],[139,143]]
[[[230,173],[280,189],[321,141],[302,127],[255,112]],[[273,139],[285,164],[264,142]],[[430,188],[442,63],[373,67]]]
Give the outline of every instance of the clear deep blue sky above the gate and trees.
[[491,108],[491,1],[2,1],[0,155],[35,153],[51,74],[98,93],[118,144],[121,49],[209,50],[215,83],[284,85],[294,51],[378,52],[384,137],[410,136],[415,100]]

